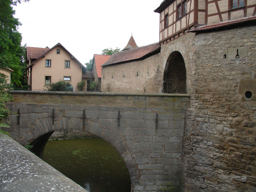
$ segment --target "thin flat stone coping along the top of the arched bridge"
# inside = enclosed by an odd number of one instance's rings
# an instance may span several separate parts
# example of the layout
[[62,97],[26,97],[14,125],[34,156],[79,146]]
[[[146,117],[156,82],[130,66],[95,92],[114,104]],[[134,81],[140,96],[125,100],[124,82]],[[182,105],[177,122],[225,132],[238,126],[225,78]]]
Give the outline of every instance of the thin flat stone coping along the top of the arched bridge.
[[86,92],[86,91],[11,91],[12,94],[49,94],[49,95],[100,95],[100,96],[158,96],[158,97],[190,97],[181,93],[112,93],[112,92]]

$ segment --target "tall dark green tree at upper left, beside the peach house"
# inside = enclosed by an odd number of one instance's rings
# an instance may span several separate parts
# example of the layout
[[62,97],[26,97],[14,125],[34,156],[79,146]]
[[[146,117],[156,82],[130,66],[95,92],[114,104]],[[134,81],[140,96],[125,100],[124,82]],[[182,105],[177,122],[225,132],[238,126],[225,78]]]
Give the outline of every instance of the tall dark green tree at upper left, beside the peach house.
[[[23,0],[24,2],[29,0]],[[9,67],[14,72],[11,81],[16,86],[21,86],[25,64],[25,47],[21,46],[21,34],[18,26],[21,23],[13,15],[12,5],[21,3],[21,0],[1,0],[0,3],[0,67]]]

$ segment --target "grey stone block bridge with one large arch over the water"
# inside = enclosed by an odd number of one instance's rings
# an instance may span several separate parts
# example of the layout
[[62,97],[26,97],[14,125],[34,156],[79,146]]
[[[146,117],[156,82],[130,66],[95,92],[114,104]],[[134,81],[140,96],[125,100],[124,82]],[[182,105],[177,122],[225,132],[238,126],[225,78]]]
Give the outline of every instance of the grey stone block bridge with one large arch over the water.
[[130,173],[131,191],[180,185],[187,94],[12,91],[12,138],[42,156],[57,130],[87,131],[108,141]]

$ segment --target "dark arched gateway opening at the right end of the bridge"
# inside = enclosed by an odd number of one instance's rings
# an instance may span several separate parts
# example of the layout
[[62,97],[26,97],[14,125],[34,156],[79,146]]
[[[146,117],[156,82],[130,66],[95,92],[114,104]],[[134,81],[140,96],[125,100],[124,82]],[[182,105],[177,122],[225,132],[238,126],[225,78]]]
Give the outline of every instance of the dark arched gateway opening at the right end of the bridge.
[[186,66],[180,52],[174,51],[166,61],[164,70],[164,93],[187,93]]

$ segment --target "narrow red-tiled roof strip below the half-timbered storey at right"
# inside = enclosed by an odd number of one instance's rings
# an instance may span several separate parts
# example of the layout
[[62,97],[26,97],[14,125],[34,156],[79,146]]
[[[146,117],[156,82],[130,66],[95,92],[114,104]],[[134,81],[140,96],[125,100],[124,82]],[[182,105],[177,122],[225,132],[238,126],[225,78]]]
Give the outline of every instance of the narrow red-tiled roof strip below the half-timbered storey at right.
[[256,21],[256,17],[247,17],[247,18],[238,19],[238,20],[235,20],[235,21],[225,21],[225,22],[220,22],[220,23],[211,24],[211,25],[203,25],[203,26],[197,27],[195,29],[191,29],[188,32],[199,32],[199,31],[214,30],[214,29],[219,29],[221,27],[237,25],[237,24],[240,24],[240,23],[250,22],[250,21]]

